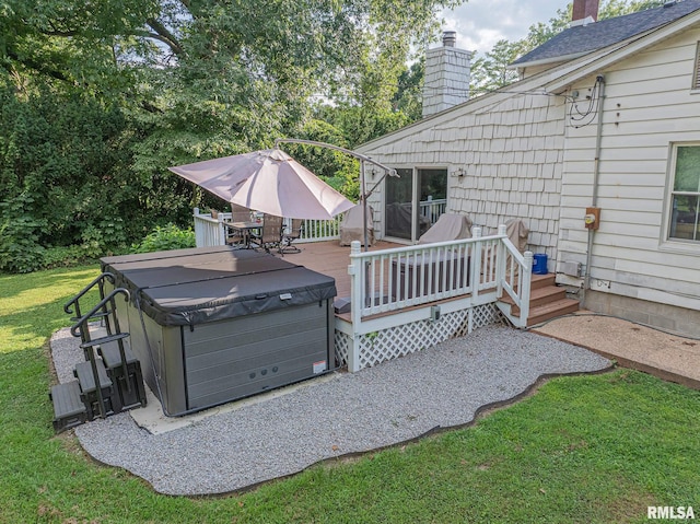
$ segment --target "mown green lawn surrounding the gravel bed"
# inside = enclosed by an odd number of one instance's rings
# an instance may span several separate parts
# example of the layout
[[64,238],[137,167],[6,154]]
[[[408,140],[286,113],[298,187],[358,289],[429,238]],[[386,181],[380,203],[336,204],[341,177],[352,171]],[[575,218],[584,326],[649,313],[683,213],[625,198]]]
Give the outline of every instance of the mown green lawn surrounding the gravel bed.
[[[48,338],[96,267],[0,276],[0,523],[642,523],[700,513],[700,392],[562,377],[471,427],[250,492],[167,497],[54,435]],[[90,299],[85,304],[90,303]]]

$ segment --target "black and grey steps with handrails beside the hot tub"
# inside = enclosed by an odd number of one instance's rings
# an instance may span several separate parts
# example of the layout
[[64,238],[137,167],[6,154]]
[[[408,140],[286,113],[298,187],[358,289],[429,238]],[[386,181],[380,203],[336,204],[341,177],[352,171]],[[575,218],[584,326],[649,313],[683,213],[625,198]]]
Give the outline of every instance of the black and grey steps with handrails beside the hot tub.
[[[75,380],[51,387],[54,429],[57,433],[95,418],[105,418],[127,409],[145,406],[141,364],[129,347],[129,334],[119,328],[115,301],[127,290],[117,288],[105,295],[103,283],[114,282],[103,273],[66,304],[74,315],[71,334],[80,337],[84,361],[75,364]],[[100,287],[100,303],[80,315],[79,299],[92,287]],[[97,335],[95,337],[95,335]]]

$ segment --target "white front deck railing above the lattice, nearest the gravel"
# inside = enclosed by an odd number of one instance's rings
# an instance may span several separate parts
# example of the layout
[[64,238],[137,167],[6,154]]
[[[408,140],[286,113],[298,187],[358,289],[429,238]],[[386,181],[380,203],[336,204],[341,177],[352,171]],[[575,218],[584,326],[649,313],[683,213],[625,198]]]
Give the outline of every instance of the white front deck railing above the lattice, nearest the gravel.
[[469,298],[470,305],[497,302],[506,293],[520,310],[503,313],[517,327],[529,314],[533,254],[521,255],[508,238],[505,226],[493,236],[457,242],[362,252],[353,242],[348,272],[351,276],[351,317],[355,333],[363,319],[389,312]]

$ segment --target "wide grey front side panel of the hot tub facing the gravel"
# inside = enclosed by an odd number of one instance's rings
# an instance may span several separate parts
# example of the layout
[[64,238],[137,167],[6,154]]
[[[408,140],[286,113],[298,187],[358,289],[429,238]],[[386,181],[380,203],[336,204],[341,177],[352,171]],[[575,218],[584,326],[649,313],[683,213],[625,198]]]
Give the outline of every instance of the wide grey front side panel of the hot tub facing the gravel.
[[188,409],[203,409],[335,369],[330,301],[183,328]]

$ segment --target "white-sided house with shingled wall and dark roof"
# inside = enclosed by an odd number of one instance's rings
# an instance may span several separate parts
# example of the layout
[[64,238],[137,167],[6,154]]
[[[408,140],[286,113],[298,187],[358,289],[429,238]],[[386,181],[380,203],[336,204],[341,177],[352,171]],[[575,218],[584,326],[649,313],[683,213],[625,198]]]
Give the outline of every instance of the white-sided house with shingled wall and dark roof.
[[376,235],[520,218],[585,308],[699,337],[700,0],[597,7],[575,0],[571,26],[512,65],[520,81],[359,148],[401,175],[373,194]]

